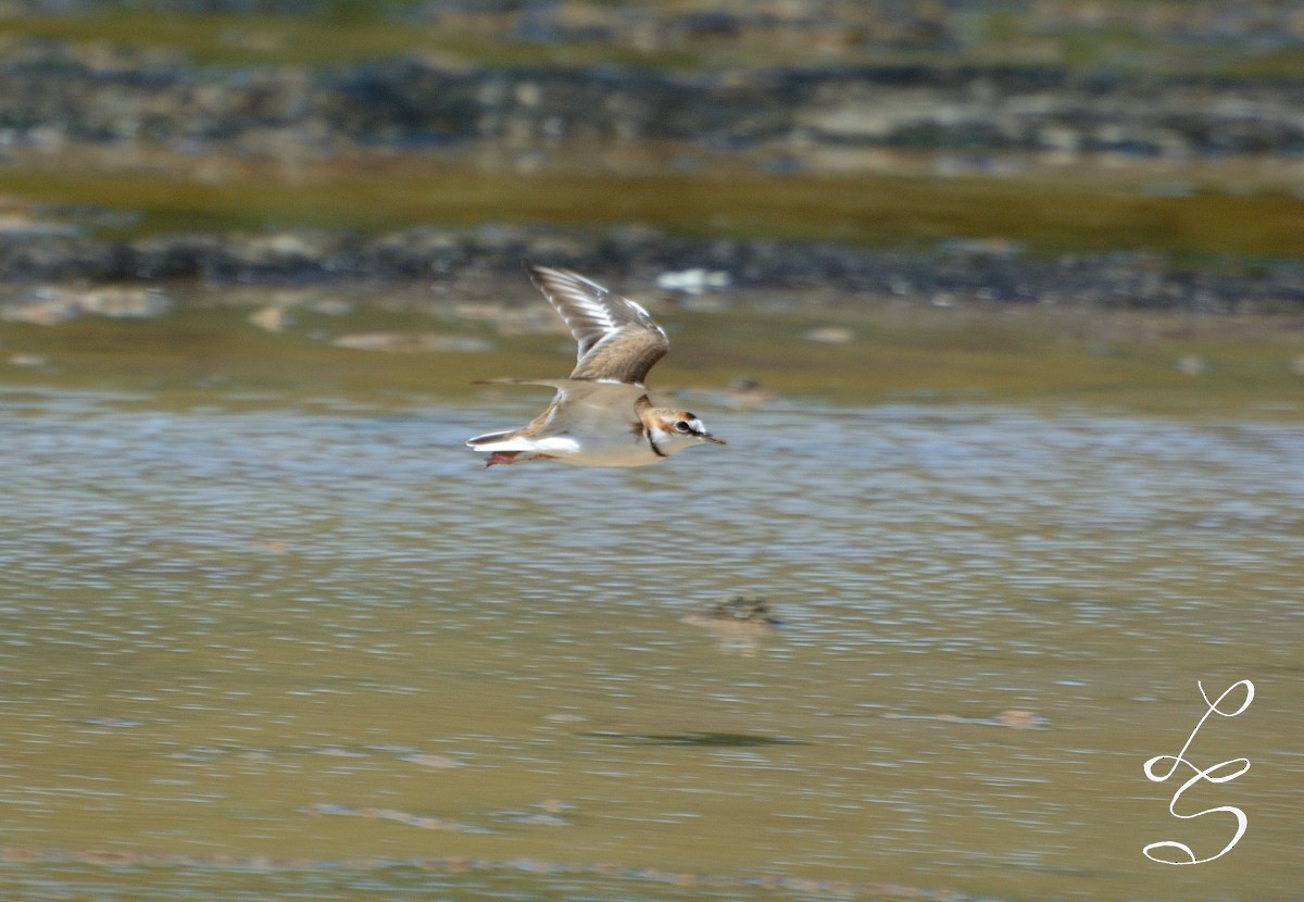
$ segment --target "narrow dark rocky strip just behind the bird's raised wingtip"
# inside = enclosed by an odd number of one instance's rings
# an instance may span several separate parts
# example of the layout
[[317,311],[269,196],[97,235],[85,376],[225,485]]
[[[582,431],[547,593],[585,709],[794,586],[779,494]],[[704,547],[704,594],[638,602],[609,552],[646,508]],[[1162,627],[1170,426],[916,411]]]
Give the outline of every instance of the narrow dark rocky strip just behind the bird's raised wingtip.
[[0,240],[13,297],[43,282],[211,284],[452,283],[515,272],[520,261],[625,274],[668,288],[828,288],[935,304],[996,301],[1205,312],[1299,309],[1304,262],[1254,271],[1181,270],[1141,254],[1029,257],[1017,248],[952,244],[931,253],[762,240],[689,240],[645,228],[559,232],[413,228],[363,237],[331,232],[176,235],[137,241],[74,236]]

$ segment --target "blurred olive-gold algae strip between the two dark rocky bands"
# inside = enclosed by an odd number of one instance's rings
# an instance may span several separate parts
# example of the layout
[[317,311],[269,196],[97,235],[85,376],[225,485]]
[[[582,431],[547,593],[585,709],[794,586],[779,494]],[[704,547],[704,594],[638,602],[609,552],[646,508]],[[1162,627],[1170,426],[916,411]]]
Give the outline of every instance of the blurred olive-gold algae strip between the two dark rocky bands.
[[0,194],[130,212],[106,236],[309,227],[377,232],[485,222],[670,235],[931,246],[956,237],[1034,253],[1154,250],[1189,258],[1301,257],[1304,203],[1262,190],[1146,193],[1144,179],[914,179],[762,172],[485,172],[436,159],[304,164],[276,175],[236,162],[216,180],[158,172],[0,168]]

